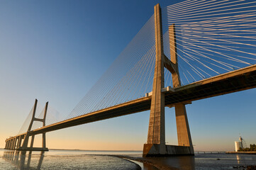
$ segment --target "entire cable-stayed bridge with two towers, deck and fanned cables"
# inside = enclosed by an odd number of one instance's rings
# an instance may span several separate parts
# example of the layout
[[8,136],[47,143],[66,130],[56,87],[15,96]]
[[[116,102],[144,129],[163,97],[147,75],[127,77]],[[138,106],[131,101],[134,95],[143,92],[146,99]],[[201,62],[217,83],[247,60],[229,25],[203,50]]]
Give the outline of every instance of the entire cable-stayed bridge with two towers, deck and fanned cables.
[[[256,86],[255,7],[245,0],[157,4],[67,118],[57,118],[48,103],[36,114],[36,100],[5,148],[48,150],[46,132],[150,110],[143,155],[194,154],[185,105]],[[165,145],[165,106],[175,108],[178,146]],[[33,147],[38,134],[43,134],[40,148]]]

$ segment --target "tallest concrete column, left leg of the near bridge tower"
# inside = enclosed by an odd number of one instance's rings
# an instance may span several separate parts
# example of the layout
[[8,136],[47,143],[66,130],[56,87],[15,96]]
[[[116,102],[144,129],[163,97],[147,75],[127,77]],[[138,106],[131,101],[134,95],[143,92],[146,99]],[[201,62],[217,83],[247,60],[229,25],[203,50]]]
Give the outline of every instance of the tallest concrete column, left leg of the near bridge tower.
[[162,44],[161,8],[157,4],[155,10],[155,74],[150,107],[150,123],[148,126],[148,142],[143,147],[143,157],[150,155],[165,155],[165,87],[164,52]]

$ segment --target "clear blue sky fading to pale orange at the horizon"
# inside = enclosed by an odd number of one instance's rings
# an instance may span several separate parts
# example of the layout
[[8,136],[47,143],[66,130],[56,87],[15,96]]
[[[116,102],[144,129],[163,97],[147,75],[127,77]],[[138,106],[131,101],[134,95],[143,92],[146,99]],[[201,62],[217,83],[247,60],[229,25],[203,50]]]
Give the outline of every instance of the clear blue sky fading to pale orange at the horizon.
[[[35,98],[69,113],[160,3],[170,0],[0,2],[0,147],[23,125]],[[234,150],[239,135],[256,143],[256,89],[187,105],[196,151]],[[47,147],[142,150],[149,112],[47,134]],[[174,110],[166,108],[166,141],[177,145]],[[38,145],[37,142],[36,145]]]

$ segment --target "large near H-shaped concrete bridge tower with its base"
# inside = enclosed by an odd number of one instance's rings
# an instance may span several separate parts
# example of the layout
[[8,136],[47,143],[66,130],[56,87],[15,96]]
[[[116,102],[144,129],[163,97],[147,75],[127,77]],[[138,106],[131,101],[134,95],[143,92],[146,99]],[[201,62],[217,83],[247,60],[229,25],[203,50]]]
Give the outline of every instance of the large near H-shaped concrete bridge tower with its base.
[[164,156],[172,154],[194,155],[189,123],[184,103],[175,104],[178,146],[165,145],[165,76],[164,67],[172,73],[173,87],[181,85],[177,63],[177,46],[174,24],[169,26],[169,46],[171,60],[163,50],[162,15],[160,5],[155,6],[155,74],[152,88],[148,141],[143,147],[143,157]]

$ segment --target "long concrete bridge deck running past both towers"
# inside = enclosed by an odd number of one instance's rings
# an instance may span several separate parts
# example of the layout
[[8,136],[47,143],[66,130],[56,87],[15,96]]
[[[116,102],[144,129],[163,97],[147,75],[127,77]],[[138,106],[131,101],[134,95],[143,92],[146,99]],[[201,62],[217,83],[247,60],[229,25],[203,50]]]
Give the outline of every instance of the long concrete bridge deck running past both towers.
[[[221,74],[216,77],[196,81],[187,86],[181,86],[174,89],[174,91],[165,92],[165,105],[173,106],[175,103],[191,102],[202,98],[209,98],[223,94],[233,93],[235,91],[242,91],[245,89],[252,89],[256,87],[256,65],[238,69],[233,72]],[[141,111],[150,110],[151,97],[138,98],[133,101],[121,103],[116,106],[81,115],[69,120],[64,120],[60,123],[38,128],[31,132],[31,135],[37,135],[42,132],[50,132],[53,130],[60,130],[62,128],[69,128],[75,125],[82,125],[84,123],[91,123],[108,118],[115,118],[121,115],[128,115],[138,113]],[[25,134],[21,134],[25,135]],[[21,136],[18,135],[18,136]],[[16,136],[16,137],[18,137]],[[8,140],[13,139],[13,137]]]

